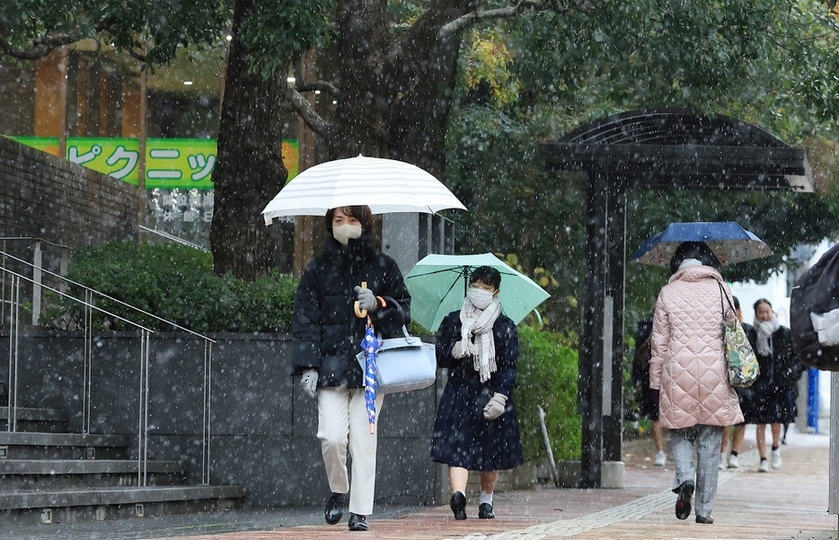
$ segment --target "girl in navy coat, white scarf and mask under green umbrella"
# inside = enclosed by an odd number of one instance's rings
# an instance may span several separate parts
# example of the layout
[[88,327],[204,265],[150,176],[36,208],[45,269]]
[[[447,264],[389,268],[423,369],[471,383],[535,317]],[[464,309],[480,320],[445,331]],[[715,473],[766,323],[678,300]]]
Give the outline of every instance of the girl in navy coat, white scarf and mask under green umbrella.
[[501,313],[500,286],[498,270],[472,270],[463,307],[447,314],[437,330],[437,366],[448,369],[448,382],[437,407],[431,460],[449,467],[455,519],[466,519],[469,471],[481,472],[478,518],[491,519],[499,470],[524,463],[513,403],[518,331]]

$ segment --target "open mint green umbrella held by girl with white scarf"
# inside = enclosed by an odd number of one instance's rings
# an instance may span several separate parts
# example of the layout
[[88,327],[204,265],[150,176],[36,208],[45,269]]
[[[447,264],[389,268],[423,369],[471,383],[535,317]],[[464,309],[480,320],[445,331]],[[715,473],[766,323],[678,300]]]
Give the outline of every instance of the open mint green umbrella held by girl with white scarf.
[[514,323],[550,297],[525,274],[510,268],[492,253],[478,255],[426,255],[405,276],[411,292],[411,319],[437,332],[443,318],[464,304],[469,275],[480,266],[499,270],[501,310]]

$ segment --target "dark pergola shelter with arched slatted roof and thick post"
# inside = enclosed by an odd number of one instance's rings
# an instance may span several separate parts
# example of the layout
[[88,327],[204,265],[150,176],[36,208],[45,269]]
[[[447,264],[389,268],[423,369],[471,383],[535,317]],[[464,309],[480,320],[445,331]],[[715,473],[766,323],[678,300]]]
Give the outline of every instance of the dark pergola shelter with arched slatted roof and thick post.
[[812,191],[803,148],[720,114],[629,111],[540,146],[551,170],[587,173],[587,252],[579,344],[582,488],[621,461],[626,193],[656,190]]

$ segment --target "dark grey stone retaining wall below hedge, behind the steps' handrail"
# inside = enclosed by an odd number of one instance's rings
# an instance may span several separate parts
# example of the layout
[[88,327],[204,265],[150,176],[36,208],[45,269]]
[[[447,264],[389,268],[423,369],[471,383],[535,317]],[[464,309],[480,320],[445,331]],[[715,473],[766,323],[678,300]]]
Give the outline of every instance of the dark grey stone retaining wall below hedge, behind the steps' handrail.
[[[317,406],[289,376],[286,334],[212,334],[211,483],[243,485],[251,508],[322,505],[329,495],[316,438]],[[93,336],[91,432],[137,441],[140,341],[133,332]],[[0,333],[0,350],[9,350]],[[200,482],[205,342],[156,332],[149,346],[149,459],[180,459]],[[18,405],[64,409],[82,429],[84,334],[22,332]],[[377,503],[447,500],[446,468],[429,459],[442,375],[425,390],[391,394],[379,420]],[[132,449],[137,456],[137,443]]]

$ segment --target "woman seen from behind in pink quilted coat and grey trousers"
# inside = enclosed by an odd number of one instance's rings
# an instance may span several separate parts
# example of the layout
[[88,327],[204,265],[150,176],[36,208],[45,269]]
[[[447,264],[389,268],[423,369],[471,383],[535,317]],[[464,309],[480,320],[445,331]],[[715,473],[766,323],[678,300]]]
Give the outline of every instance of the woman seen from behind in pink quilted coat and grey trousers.
[[719,267],[705,243],[679,244],[658,293],[650,341],[649,386],[659,390],[658,419],[676,465],[676,518],[691,515],[695,490],[696,523],[705,524],[714,522],[722,430],[743,421],[723,356],[720,323],[736,314],[720,301],[720,293],[731,292]]

